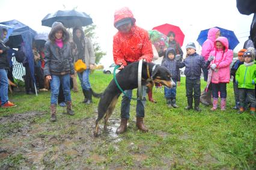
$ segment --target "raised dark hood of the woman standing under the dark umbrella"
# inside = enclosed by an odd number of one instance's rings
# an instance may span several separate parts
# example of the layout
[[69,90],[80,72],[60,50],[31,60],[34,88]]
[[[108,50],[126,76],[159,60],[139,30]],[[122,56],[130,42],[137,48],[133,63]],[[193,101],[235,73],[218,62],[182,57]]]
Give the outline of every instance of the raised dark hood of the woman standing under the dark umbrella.
[[69,32],[67,32],[67,29],[63,26],[63,24],[61,22],[54,22],[52,24],[52,29],[50,30],[50,33],[48,35],[48,38],[50,41],[52,41],[52,43],[55,42],[55,33],[61,30],[62,33],[62,41],[63,43],[67,43],[67,41],[69,41]]

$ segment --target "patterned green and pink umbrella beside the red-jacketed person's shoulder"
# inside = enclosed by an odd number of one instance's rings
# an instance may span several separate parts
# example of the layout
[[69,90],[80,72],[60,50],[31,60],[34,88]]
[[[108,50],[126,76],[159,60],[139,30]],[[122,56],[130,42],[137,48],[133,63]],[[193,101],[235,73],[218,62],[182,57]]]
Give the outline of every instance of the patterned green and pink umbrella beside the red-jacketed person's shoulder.
[[163,49],[168,47],[169,38],[157,30],[150,30],[148,34],[150,35],[151,43],[156,47],[160,56],[160,54],[163,54]]

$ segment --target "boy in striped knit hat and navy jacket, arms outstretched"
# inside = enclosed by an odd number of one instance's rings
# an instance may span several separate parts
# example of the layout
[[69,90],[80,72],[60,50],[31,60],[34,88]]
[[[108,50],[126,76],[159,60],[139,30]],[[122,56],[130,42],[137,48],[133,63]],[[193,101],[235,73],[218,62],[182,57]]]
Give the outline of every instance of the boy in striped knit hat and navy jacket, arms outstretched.
[[[214,58],[213,56],[209,56],[207,62],[204,61],[203,56],[198,55],[196,53],[196,48],[194,43],[188,43],[186,46],[187,57],[183,62],[178,64],[178,67],[186,67],[184,74],[186,76],[186,96],[187,96],[187,107],[185,109],[190,110],[193,109],[193,91],[194,91],[194,100],[195,100],[195,111],[201,112],[199,108],[200,104],[200,76],[201,76],[201,68],[206,68],[210,61]],[[178,58],[176,57],[178,60]]]

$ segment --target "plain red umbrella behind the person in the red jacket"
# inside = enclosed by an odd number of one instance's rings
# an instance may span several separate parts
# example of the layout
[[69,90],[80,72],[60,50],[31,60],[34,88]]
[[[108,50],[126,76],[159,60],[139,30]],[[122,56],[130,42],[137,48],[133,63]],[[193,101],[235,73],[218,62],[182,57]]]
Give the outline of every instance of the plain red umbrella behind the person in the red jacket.
[[160,31],[165,35],[167,35],[170,31],[174,32],[175,40],[180,44],[180,46],[183,45],[185,35],[181,31],[180,27],[165,23],[163,25],[155,26],[153,29]]

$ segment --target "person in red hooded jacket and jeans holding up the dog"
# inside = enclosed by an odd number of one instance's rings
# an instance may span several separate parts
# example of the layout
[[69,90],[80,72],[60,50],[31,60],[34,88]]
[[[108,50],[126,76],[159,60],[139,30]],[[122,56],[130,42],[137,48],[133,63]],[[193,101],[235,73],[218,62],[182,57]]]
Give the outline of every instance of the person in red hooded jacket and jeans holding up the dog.
[[[133,17],[129,8],[123,7],[114,14],[114,26],[118,29],[113,39],[113,56],[115,64],[120,65],[119,69],[123,69],[140,59],[151,62],[153,59],[153,51],[148,32],[145,29],[135,25],[136,19]],[[145,87],[143,87],[145,88]],[[142,90],[143,91],[143,90]],[[121,124],[117,129],[117,133],[124,133],[127,129],[127,121],[130,118],[130,97],[132,90],[126,90],[127,96],[123,96],[121,102]],[[137,94],[138,96],[138,94]],[[148,132],[144,126],[144,106],[145,106],[145,90],[142,100],[137,100],[136,104],[136,126],[142,132]]]

